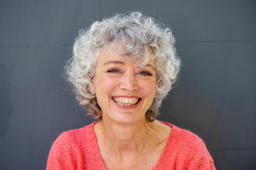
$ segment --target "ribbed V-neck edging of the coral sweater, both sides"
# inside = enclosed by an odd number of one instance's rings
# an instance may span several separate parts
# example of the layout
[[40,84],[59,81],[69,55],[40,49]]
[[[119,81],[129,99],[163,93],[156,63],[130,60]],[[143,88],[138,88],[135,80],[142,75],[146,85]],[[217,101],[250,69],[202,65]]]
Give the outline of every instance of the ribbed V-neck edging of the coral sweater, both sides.
[[[107,167],[105,166],[105,164],[102,160],[102,157],[100,155],[100,149],[99,149],[99,146],[97,145],[97,137],[96,137],[95,130],[94,130],[95,124],[98,122],[99,121],[95,121],[94,123],[88,125],[88,131],[87,131],[88,145],[90,145],[89,148],[90,148],[90,152],[92,155],[92,162],[93,162],[93,164],[95,164],[95,167],[97,167],[97,169],[107,170]],[[170,132],[168,140],[166,141],[164,150],[161,153],[159,160],[156,162],[156,164],[154,166],[154,169],[156,169],[157,166],[161,165],[162,162],[165,162],[166,154],[168,154],[168,150],[170,150],[170,148],[172,147],[172,144],[174,144],[175,140],[176,140],[176,137],[174,137],[174,135],[176,134],[176,130],[177,130],[176,126],[172,125],[170,123],[162,122],[162,121],[161,121],[161,123],[164,123],[165,125],[169,125],[171,127],[171,132]]]

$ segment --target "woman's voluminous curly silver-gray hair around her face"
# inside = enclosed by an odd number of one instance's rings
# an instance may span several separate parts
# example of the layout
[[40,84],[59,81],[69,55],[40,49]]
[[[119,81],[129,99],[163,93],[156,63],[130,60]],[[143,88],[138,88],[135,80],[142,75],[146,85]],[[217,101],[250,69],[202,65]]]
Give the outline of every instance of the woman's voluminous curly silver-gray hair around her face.
[[142,58],[144,64],[151,57],[156,60],[156,97],[146,111],[146,119],[154,121],[159,115],[161,101],[171,90],[180,69],[174,42],[174,35],[169,28],[164,28],[153,18],[139,12],[117,14],[101,22],[96,21],[87,30],[80,30],[73,46],[73,57],[66,67],[80,105],[87,108],[92,118],[102,118],[97,98],[90,92],[98,52],[106,45],[121,45],[126,54]]

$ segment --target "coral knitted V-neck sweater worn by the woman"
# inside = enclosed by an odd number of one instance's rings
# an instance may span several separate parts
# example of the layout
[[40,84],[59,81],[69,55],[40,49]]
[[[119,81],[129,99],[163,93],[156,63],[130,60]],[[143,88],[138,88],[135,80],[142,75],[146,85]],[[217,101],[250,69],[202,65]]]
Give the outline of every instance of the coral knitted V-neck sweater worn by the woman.
[[[95,123],[63,132],[50,149],[46,169],[107,169],[97,146]],[[165,124],[171,126],[172,130],[154,170],[215,169],[201,138],[188,130]]]

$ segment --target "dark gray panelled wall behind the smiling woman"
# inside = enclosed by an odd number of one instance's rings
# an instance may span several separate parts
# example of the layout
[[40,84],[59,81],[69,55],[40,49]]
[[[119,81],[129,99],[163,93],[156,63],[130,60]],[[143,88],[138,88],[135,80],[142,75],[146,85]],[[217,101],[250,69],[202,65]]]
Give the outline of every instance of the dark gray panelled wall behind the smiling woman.
[[0,169],[46,169],[50,146],[85,116],[62,78],[80,28],[140,10],[176,36],[183,67],[160,120],[195,132],[217,169],[256,169],[256,2],[0,1]]

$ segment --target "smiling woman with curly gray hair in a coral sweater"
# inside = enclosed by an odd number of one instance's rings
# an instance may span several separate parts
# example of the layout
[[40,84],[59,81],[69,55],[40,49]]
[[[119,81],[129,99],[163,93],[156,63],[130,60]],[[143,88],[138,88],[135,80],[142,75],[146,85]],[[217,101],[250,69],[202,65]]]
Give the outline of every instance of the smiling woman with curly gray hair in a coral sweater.
[[68,75],[80,105],[101,120],[63,132],[47,169],[215,169],[199,137],[155,119],[179,65],[171,30],[142,13],[80,31]]

